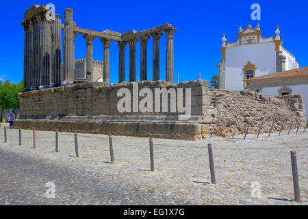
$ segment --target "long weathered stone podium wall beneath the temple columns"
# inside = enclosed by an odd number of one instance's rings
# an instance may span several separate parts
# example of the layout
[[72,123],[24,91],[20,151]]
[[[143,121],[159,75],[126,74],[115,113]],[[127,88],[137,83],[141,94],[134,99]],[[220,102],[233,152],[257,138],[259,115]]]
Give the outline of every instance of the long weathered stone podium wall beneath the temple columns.
[[[116,105],[122,96],[118,97],[117,91],[131,90],[136,84],[139,89],[151,90],[191,88],[192,116],[179,120],[178,112],[118,112]],[[300,127],[305,126],[305,111],[298,107],[304,103],[301,94],[278,97],[253,91],[218,90],[208,88],[208,81],[203,80],[178,85],[164,81],[114,85],[95,82],[24,92],[20,97],[21,116],[15,120],[14,128],[198,140],[209,137],[207,124],[211,136],[227,138],[231,136],[230,123],[235,135],[245,133],[248,123],[249,133],[257,133],[262,122],[261,133],[270,130],[272,121],[275,121],[273,131],[279,131],[283,120],[285,129],[292,120],[292,129],[297,128],[300,120],[303,121]]]

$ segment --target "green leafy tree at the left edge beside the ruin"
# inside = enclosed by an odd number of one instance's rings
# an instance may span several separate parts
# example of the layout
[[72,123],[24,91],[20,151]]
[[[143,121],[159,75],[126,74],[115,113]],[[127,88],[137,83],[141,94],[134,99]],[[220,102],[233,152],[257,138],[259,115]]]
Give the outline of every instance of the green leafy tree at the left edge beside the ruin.
[[0,120],[2,121],[2,114],[4,110],[13,109],[16,115],[19,110],[18,93],[23,90],[23,81],[20,83],[10,83],[10,81],[0,81]]

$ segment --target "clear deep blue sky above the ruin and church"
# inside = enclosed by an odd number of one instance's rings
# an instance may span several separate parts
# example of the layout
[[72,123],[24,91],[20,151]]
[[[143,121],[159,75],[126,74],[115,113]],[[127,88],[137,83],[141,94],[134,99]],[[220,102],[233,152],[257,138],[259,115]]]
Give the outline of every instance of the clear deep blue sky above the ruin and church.
[[[211,79],[221,60],[221,38],[235,42],[238,28],[248,23],[261,26],[261,36],[274,36],[277,24],[283,47],[296,56],[301,67],[308,66],[306,38],[308,36],[307,1],[1,1],[0,14],[0,79],[18,83],[23,79],[24,31],[23,12],[31,5],[55,5],[56,14],[73,8],[78,27],[103,31],[141,31],[164,23],[171,23],[175,32],[175,81],[198,78]],[[261,5],[261,21],[250,21],[251,5]],[[148,78],[152,78],[152,40],[148,46]],[[166,75],[166,36],[160,43],[161,79]],[[140,43],[136,47],[137,77],[140,77]],[[86,57],[86,42],[78,34],[75,41],[75,59]],[[103,45],[94,40],[94,60],[103,60]],[[128,80],[129,47],[126,48],[126,79]],[[110,81],[118,81],[118,43],[110,46]]]

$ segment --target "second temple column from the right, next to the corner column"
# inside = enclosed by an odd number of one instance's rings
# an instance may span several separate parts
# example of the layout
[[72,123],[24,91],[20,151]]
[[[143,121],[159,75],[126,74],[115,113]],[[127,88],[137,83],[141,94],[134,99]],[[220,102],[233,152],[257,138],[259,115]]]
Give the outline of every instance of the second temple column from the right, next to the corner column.
[[159,80],[159,40],[162,31],[155,31],[151,34],[153,38],[153,81]]

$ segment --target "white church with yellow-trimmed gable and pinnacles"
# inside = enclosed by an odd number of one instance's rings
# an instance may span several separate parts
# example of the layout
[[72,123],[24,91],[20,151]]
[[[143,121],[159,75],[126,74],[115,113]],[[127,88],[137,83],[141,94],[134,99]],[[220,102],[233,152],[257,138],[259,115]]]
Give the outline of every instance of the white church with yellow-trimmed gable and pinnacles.
[[238,40],[226,42],[222,38],[222,61],[219,68],[219,87],[226,90],[244,90],[249,83],[244,79],[298,68],[294,55],[281,46],[277,25],[276,36],[261,37],[259,23],[244,30],[240,27]]

